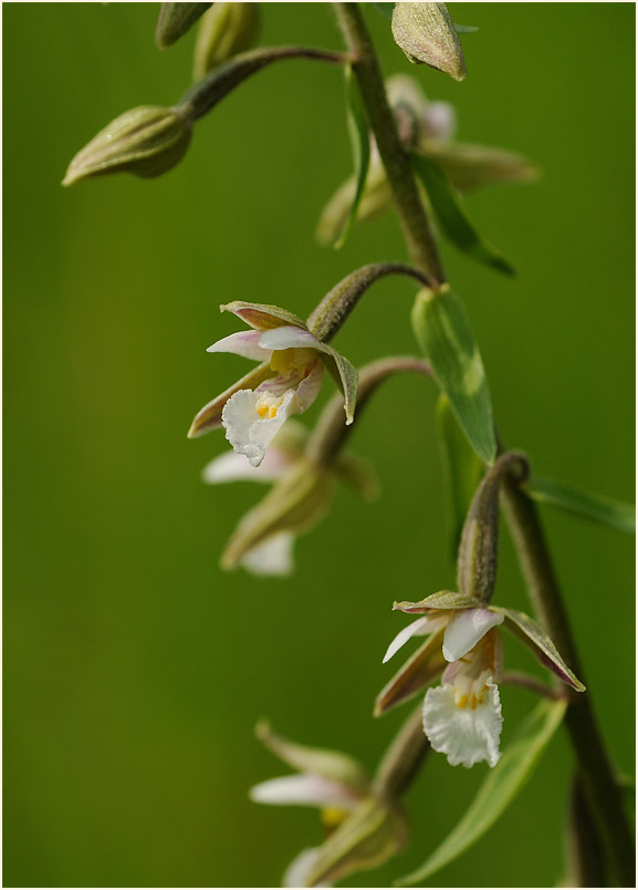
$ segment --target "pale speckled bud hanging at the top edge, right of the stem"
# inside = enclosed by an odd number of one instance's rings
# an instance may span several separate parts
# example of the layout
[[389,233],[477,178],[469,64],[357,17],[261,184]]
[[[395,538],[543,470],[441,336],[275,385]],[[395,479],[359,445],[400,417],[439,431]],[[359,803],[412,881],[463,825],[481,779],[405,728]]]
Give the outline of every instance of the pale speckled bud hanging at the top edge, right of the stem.
[[393,34],[410,62],[425,62],[456,81],[464,79],[463,51],[444,3],[397,3]]

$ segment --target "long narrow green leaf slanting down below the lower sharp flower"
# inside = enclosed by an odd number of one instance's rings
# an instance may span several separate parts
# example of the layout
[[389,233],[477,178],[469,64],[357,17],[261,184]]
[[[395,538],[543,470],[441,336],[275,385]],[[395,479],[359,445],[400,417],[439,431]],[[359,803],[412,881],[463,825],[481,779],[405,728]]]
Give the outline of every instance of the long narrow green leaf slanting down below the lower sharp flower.
[[397,881],[397,887],[421,883],[466,852],[494,825],[523,789],[561,724],[565,710],[564,701],[543,701],[536,705],[521,727],[516,741],[503,752],[496,766],[488,773],[479,793],[456,828],[428,857],[423,866]]

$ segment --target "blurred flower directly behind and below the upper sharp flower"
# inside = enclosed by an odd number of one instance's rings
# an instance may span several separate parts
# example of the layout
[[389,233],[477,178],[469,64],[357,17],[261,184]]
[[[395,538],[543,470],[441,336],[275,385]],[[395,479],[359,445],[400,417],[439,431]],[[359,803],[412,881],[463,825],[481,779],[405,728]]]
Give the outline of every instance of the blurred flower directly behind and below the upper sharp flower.
[[274,483],[231,535],[221,557],[222,568],[241,566],[259,576],[291,575],[294,541],[328,511],[335,479],[366,500],[377,496],[378,482],[367,460],[342,453],[318,466],[304,456],[307,438],[305,427],[291,420],[276,435],[259,467],[252,467],[233,452],[226,452],[203,468],[203,480],[213,485],[244,479]]

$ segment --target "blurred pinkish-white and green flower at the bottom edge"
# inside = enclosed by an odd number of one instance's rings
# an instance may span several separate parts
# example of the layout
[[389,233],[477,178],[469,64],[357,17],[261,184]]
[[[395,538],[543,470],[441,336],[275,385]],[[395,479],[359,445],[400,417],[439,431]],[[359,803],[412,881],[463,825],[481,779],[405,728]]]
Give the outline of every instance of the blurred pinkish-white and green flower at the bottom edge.
[[263,782],[250,790],[259,804],[320,809],[327,839],[293,859],[284,887],[331,887],[356,871],[377,868],[407,839],[402,809],[375,793],[365,769],[347,754],[311,748],[275,735],[268,725],[258,736],[296,775]]

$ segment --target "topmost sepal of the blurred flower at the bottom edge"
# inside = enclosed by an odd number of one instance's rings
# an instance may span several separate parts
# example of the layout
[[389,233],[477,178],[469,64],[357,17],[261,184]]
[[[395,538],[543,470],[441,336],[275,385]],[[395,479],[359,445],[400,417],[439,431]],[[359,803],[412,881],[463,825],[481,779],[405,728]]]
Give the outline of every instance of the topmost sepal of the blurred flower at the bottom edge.
[[266,721],[260,721],[254,731],[259,741],[265,745],[280,760],[300,773],[323,776],[334,782],[348,785],[362,793],[368,790],[370,780],[364,767],[341,751],[314,748],[300,745],[278,735]]

